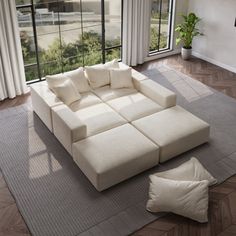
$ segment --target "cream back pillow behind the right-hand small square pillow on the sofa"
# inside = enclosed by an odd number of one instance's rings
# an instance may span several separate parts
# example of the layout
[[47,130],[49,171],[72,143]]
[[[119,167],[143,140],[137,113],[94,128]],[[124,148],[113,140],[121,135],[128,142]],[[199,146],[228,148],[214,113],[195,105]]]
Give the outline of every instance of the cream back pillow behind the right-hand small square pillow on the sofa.
[[86,66],[85,72],[89,83],[93,89],[100,88],[110,84],[110,69],[119,68],[116,59],[105,64]]

